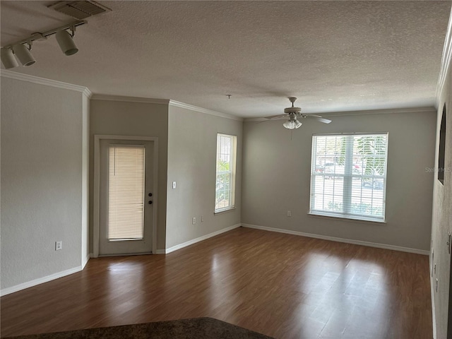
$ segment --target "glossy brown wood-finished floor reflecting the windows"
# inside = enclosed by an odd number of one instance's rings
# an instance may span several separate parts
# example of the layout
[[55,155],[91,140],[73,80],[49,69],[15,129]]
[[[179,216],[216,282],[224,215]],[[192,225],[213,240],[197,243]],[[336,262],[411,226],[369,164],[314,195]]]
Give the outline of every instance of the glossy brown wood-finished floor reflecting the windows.
[[427,256],[247,228],[0,302],[2,337],[210,316],[280,339],[432,338]]

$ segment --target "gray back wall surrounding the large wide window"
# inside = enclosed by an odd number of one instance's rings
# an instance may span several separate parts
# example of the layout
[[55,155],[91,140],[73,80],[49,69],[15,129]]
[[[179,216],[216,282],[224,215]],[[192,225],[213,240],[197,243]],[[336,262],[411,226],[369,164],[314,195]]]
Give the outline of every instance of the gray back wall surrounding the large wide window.
[[[428,251],[435,109],[329,118],[304,119],[293,133],[283,121],[244,124],[242,223]],[[389,133],[386,223],[308,215],[312,134],[378,131]]]

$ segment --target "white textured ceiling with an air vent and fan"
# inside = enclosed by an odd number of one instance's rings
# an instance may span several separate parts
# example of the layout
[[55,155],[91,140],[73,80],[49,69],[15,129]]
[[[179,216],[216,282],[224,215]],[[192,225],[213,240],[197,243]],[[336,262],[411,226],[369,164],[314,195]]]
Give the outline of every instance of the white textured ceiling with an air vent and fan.
[[[53,2],[1,1],[1,46],[75,20]],[[11,71],[239,117],[282,113],[288,96],[306,113],[432,106],[451,13],[451,1],[98,2],[112,11],[77,29],[77,54],[52,36]]]

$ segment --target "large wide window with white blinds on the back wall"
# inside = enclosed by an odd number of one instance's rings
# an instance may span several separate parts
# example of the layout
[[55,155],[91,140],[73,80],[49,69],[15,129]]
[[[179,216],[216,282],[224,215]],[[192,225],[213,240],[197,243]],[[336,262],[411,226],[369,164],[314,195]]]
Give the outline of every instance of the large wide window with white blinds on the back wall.
[[388,133],[312,137],[310,214],[383,222]]

